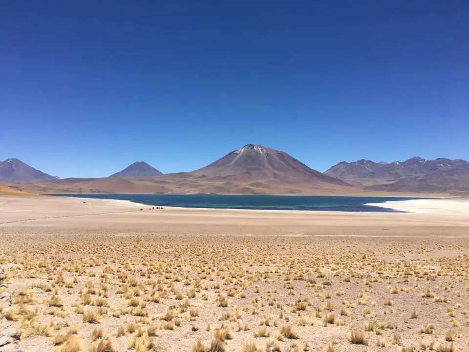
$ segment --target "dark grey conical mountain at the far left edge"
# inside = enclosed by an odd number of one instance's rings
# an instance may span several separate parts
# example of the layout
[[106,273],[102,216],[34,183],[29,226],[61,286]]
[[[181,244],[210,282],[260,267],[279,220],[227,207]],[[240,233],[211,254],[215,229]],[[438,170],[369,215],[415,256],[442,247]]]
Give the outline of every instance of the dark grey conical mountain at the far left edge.
[[58,177],[43,173],[18,159],[0,161],[0,182],[39,182]]

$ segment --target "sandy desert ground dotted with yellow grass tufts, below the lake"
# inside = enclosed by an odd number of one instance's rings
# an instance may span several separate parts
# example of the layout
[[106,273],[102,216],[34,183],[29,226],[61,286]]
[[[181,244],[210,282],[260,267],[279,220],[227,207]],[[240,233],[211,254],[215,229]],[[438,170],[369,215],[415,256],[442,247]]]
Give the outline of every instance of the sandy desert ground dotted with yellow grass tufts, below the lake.
[[328,213],[0,196],[0,341],[24,352],[469,351],[461,204]]

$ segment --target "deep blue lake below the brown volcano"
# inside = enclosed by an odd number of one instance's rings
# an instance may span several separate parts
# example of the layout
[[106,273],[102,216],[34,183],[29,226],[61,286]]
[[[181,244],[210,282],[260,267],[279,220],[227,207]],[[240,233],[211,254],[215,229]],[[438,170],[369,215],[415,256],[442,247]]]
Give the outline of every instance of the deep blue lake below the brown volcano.
[[53,196],[130,200],[151,206],[221,209],[317,210],[347,212],[397,212],[365,205],[409,197],[260,196],[260,195],[181,195],[181,194],[57,194]]

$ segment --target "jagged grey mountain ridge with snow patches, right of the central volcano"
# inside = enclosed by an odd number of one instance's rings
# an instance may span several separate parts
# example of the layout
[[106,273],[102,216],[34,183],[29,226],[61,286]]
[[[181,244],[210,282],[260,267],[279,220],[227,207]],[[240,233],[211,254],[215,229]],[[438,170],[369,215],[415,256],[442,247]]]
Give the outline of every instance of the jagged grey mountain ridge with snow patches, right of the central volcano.
[[377,163],[361,159],[349,163],[342,161],[328,169],[324,174],[342,180],[366,183],[393,181],[408,176],[425,176],[432,173],[451,171],[469,171],[469,162],[462,159],[451,160],[446,158],[425,160],[418,156],[391,163]]

